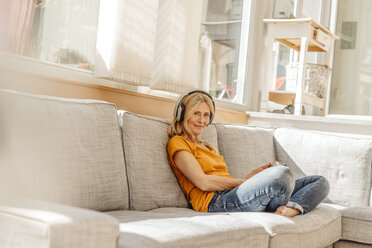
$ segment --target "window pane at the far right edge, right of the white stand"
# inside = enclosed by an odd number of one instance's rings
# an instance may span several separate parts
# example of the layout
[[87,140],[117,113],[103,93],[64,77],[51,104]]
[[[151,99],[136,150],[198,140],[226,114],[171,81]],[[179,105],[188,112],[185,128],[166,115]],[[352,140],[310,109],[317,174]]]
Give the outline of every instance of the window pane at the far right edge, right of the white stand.
[[372,116],[372,1],[338,1],[329,113]]

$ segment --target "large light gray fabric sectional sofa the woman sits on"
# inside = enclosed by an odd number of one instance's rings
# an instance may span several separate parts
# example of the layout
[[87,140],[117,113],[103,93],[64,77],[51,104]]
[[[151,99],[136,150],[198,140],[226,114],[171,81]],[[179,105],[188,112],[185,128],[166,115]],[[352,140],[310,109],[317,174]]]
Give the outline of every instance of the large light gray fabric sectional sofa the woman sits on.
[[0,247],[372,247],[372,137],[217,123],[242,177],[268,161],[331,192],[314,211],[193,211],[167,161],[169,120],[0,90]]

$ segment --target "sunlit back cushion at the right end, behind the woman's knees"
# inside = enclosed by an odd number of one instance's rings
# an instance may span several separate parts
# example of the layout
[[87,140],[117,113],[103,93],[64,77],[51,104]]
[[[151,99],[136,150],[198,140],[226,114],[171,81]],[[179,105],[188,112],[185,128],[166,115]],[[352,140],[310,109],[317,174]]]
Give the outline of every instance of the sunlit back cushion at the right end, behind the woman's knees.
[[275,129],[277,159],[330,184],[328,199],[343,206],[368,206],[372,139],[292,128]]

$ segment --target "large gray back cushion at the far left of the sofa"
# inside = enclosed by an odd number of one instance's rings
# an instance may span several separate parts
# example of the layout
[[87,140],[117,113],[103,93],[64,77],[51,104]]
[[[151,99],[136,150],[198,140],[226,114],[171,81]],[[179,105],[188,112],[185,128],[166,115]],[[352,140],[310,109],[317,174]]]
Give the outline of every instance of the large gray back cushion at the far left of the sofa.
[[128,208],[115,105],[0,90],[0,126],[0,182],[17,187],[14,193],[100,211]]

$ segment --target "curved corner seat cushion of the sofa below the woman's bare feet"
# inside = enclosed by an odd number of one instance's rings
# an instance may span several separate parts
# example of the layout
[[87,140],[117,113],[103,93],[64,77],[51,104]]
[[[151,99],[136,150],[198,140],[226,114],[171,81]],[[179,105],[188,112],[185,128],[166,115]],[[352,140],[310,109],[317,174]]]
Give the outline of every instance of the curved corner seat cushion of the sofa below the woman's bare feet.
[[271,235],[272,248],[321,248],[341,238],[340,213],[322,204],[293,218],[261,213],[256,219]]

